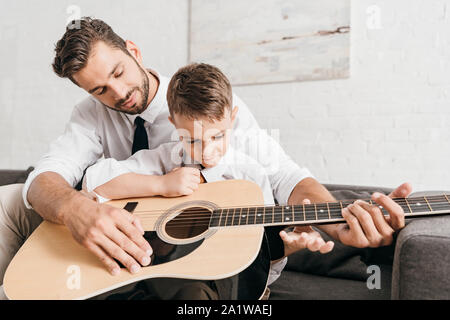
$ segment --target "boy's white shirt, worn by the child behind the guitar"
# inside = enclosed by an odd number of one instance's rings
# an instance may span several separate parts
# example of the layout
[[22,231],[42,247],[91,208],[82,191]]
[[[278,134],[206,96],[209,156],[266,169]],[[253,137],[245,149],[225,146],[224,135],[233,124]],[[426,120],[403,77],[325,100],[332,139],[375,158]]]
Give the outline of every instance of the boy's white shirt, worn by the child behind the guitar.
[[[181,142],[169,142],[153,150],[141,150],[122,161],[104,159],[89,167],[83,180],[83,189],[94,194],[99,202],[110,199],[98,195],[94,190],[106,182],[126,173],[144,175],[164,175],[184,163]],[[200,166],[197,165],[199,168]],[[200,169],[200,168],[199,168]],[[243,179],[256,183],[262,190],[265,205],[275,204],[270,182],[265,169],[250,156],[228,147],[219,163],[201,170],[206,182]],[[272,284],[281,274],[287,258],[272,264],[268,284]]]

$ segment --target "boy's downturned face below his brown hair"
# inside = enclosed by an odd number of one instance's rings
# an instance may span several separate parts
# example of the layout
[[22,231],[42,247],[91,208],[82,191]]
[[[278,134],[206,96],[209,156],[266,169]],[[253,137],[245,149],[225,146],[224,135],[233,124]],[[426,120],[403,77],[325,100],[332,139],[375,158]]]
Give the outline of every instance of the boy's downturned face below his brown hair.
[[216,166],[227,152],[229,138],[238,107],[230,112],[225,109],[222,120],[207,118],[191,120],[179,114],[169,117],[177,128],[183,149],[193,163],[201,163],[205,168]]

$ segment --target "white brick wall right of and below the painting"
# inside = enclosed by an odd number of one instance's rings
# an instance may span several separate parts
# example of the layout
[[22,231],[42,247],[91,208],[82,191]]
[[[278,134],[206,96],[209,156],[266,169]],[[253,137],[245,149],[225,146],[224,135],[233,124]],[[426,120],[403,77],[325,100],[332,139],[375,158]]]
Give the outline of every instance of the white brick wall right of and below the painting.
[[[368,28],[373,5],[380,29]],[[354,0],[349,79],[235,90],[323,183],[449,190],[448,11],[450,1]]]

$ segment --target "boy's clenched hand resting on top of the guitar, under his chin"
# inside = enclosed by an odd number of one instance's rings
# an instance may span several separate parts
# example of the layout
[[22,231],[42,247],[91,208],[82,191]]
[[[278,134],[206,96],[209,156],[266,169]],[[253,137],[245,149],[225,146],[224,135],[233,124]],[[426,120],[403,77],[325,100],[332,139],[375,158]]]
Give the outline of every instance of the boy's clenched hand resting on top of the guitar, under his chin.
[[200,183],[200,170],[190,167],[175,168],[163,175],[161,195],[179,197],[192,194]]

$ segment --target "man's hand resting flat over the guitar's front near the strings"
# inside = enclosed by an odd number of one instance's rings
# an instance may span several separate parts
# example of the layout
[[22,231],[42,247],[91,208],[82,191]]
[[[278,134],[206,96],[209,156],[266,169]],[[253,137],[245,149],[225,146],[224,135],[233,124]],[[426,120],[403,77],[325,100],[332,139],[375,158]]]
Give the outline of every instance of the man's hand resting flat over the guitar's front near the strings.
[[144,239],[144,229],[136,216],[123,209],[92,200],[78,199],[78,206],[65,215],[64,224],[74,239],[95,254],[112,275],[120,272],[114,259],[131,273],[150,264],[152,248]]

